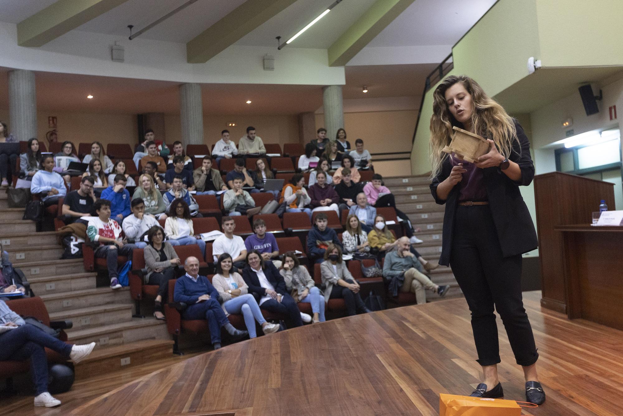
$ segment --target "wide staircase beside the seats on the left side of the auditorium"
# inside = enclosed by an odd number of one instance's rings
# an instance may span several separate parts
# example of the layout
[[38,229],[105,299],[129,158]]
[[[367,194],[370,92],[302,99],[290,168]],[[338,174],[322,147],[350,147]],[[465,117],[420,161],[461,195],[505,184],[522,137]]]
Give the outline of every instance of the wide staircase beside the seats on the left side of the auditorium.
[[97,273],[86,273],[82,258],[59,260],[63,248],[55,233],[36,232],[34,222],[21,220],[24,210],[9,209],[3,191],[0,240],[9,260],[24,272],[52,321],[73,322],[66,330],[70,342],[97,343],[93,353],[75,366],[77,377],[171,355],[173,341],[164,321],[133,318],[130,288],[97,287]]

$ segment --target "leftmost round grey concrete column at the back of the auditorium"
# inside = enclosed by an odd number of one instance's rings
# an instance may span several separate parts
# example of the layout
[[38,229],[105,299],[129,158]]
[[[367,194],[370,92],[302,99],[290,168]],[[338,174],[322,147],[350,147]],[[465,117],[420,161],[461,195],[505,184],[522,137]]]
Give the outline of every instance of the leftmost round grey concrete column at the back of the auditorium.
[[32,71],[9,71],[9,131],[20,141],[37,137],[37,93]]

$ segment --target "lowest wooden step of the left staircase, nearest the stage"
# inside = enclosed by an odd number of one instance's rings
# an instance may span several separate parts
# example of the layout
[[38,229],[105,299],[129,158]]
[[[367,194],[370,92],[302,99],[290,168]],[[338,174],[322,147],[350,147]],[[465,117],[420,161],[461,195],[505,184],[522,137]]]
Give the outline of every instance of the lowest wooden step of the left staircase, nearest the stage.
[[170,357],[171,339],[144,339],[108,348],[97,348],[75,365],[76,379],[99,376],[121,368],[141,366],[151,361]]

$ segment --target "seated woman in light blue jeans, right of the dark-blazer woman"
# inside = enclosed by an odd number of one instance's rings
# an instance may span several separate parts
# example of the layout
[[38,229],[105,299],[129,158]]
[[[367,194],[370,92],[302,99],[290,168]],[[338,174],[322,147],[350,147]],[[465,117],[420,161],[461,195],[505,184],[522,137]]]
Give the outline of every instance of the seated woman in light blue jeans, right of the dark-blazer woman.
[[312,304],[312,323],[324,322],[325,296],[314,285],[307,267],[300,265],[295,252],[287,252],[283,255],[283,268],[279,273],[281,273],[285,286],[294,300]]

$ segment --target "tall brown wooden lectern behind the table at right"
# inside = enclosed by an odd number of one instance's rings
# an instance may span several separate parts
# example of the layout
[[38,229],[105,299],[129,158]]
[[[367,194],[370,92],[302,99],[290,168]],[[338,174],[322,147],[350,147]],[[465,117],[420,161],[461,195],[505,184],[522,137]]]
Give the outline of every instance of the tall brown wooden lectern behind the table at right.
[[591,224],[592,212],[604,199],[614,210],[614,184],[568,173],[535,176],[536,232],[541,260],[541,306],[567,313],[564,287],[563,238],[554,227]]

